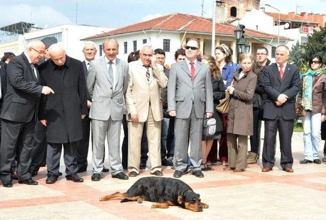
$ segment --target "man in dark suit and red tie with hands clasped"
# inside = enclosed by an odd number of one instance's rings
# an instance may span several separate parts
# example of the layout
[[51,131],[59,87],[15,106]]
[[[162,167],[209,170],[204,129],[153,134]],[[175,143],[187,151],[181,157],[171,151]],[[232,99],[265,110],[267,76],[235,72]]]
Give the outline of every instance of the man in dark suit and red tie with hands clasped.
[[295,95],[299,91],[299,68],[287,63],[289,48],[276,48],[276,63],[263,68],[262,87],[267,94],[264,106],[265,137],[262,172],[269,172],[275,163],[276,133],[279,131],[281,167],[292,173],[291,138],[295,117]]

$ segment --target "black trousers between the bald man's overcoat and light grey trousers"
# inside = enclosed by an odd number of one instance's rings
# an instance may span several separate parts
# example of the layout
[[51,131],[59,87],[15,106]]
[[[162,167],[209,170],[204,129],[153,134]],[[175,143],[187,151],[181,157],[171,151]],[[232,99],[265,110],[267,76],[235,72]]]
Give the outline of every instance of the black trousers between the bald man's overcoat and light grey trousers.
[[87,169],[87,155],[90,143],[91,118],[86,115],[83,119],[83,138],[78,141],[77,147],[77,166],[78,169]]

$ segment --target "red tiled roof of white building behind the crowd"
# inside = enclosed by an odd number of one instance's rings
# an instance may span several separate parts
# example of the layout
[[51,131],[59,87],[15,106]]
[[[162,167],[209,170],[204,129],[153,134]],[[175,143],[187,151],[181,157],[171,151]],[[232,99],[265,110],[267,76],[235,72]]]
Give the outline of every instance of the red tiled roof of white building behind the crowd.
[[[234,30],[236,26],[226,23],[216,23],[215,33],[216,35],[231,35],[234,36]],[[152,20],[135,23],[130,26],[119,28],[103,34],[87,37],[86,39],[94,39],[105,36],[112,36],[130,32],[138,32],[143,30],[167,30],[167,31],[180,31],[180,32],[197,32],[197,33],[211,33],[212,32],[212,19],[199,17],[189,14],[175,13],[162,17],[158,17]],[[257,38],[274,38],[277,39],[277,35],[267,34],[250,29],[244,29],[246,34]],[[286,37],[280,37],[280,39],[288,39]]]

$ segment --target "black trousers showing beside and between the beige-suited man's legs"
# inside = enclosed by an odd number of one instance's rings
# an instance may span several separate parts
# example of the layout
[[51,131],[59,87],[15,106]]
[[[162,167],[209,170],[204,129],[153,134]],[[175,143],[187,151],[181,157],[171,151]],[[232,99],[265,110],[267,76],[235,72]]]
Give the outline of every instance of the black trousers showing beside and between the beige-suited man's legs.
[[[128,168],[128,124],[126,120],[126,115],[123,115],[122,119],[122,127],[123,127],[123,141],[122,141],[122,167],[124,169]],[[147,142],[147,135],[146,135],[146,126],[144,124],[143,129],[143,136],[141,142],[141,161],[147,162],[148,160],[148,142]]]

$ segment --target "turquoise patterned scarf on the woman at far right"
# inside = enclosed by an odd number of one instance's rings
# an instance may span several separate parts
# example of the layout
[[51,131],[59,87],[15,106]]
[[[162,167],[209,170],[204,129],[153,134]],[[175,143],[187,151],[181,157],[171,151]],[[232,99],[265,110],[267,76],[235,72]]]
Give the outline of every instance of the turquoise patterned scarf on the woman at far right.
[[321,73],[321,68],[317,71],[309,69],[305,74],[300,76],[300,79],[303,80],[301,105],[305,110],[312,110],[313,77],[319,76]]

